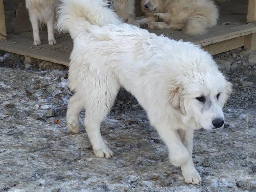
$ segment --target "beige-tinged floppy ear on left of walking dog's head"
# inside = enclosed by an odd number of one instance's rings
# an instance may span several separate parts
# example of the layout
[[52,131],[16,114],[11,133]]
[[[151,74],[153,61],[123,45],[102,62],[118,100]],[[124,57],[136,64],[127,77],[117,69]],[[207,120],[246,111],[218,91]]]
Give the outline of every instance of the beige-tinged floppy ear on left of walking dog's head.
[[174,85],[169,88],[169,103],[178,112],[186,115],[181,85]]

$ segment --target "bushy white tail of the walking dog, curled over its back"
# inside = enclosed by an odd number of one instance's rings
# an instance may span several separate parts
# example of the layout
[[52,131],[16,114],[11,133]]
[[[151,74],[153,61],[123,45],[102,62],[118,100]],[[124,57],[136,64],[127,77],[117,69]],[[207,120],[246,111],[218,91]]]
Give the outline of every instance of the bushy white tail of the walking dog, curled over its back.
[[108,8],[106,0],[61,0],[58,8],[58,31],[68,31],[72,39],[91,25],[120,24],[118,16]]

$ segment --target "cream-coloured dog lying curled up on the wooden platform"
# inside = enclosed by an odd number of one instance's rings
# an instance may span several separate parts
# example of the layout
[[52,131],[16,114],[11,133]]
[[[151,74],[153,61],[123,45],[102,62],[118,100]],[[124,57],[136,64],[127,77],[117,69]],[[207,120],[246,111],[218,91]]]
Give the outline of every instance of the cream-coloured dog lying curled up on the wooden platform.
[[184,29],[189,35],[206,33],[216,25],[218,8],[212,0],[142,0],[146,18],[137,20],[150,29]]

